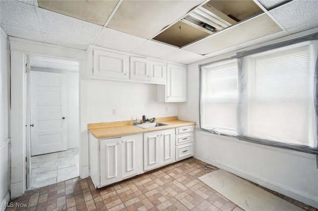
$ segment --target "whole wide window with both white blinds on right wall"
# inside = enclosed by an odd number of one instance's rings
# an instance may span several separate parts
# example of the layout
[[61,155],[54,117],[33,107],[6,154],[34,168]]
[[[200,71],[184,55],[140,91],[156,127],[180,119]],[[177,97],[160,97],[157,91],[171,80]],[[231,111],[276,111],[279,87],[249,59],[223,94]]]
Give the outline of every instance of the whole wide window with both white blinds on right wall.
[[317,149],[317,42],[201,66],[200,127]]

